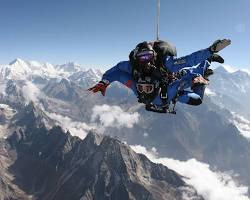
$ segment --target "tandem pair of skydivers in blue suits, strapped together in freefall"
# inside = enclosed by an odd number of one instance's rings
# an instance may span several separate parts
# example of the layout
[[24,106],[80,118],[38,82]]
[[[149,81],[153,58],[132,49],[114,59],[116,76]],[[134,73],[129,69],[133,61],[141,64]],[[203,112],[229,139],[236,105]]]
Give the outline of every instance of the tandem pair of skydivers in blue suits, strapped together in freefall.
[[[108,85],[118,81],[130,88],[147,110],[167,112],[173,100],[200,105],[204,85],[213,74],[210,63],[224,62],[216,53],[230,44],[227,39],[216,40],[206,49],[176,58],[175,48],[167,42],[142,42],[130,53],[129,61],[107,70],[102,80],[88,90],[105,96]],[[185,90],[188,87],[192,91]]]

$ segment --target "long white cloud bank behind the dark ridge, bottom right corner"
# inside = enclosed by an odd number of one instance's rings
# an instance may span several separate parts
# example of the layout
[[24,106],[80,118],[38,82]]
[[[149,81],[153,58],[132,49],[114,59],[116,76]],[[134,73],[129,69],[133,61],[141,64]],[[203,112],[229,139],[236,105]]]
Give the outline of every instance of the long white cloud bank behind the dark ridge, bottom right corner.
[[196,159],[179,161],[158,158],[155,150],[148,151],[140,145],[131,147],[137,153],[145,154],[151,161],[161,163],[186,177],[184,181],[192,185],[206,200],[249,200],[246,186],[237,184],[227,173],[212,171],[208,164]]

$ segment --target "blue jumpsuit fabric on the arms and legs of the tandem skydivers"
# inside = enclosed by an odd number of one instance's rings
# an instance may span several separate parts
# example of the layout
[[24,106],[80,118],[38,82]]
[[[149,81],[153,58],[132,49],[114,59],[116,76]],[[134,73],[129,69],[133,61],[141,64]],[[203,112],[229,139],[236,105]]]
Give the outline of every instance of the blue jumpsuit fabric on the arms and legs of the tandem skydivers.
[[[188,56],[175,58],[169,56],[164,61],[164,67],[170,72],[182,71],[183,76],[168,85],[167,95],[168,102],[170,102],[177,95],[180,89],[183,90],[182,94],[178,96],[177,100],[182,103],[188,103],[190,99],[202,100],[204,94],[204,87],[196,87],[193,91],[185,91],[185,88],[191,87],[192,80],[198,75],[204,75],[204,71],[209,67],[210,63],[206,61],[212,53],[209,49],[203,49],[194,52]],[[198,66],[197,66],[198,65]],[[109,81],[110,83],[118,81],[129,87],[136,96],[138,96],[136,89],[136,82],[132,76],[132,65],[130,61],[122,61],[117,65],[107,70],[102,80]],[[152,102],[155,105],[162,105],[162,100],[158,95]]]

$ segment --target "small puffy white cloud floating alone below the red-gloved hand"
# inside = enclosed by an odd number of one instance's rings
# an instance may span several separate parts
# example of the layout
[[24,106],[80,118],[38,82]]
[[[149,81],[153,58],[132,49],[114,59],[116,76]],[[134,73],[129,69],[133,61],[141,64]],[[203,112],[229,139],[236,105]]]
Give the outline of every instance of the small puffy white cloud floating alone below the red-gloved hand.
[[104,127],[132,128],[139,121],[139,113],[128,113],[119,106],[101,105],[93,108],[92,122],[99,122]]

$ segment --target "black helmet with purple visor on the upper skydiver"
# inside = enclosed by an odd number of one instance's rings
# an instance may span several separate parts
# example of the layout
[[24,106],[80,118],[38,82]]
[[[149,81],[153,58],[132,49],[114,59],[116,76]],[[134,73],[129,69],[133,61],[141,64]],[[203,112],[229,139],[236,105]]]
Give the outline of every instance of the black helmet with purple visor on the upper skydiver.
[[136,60],[139,65],[147,65],[149,63],[153,64],[156,53],[153,46],[148,42],[139,43],[134,49],[134,60]]

